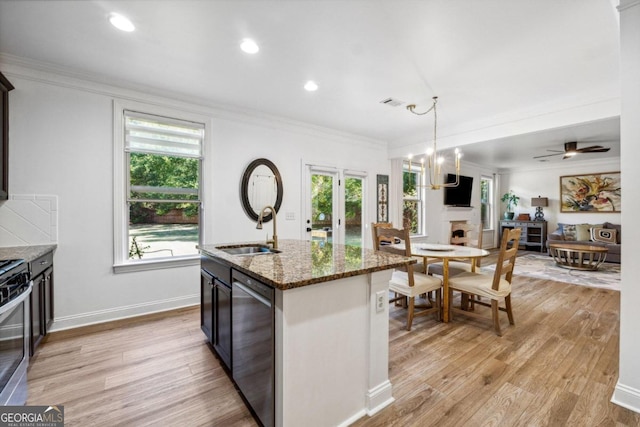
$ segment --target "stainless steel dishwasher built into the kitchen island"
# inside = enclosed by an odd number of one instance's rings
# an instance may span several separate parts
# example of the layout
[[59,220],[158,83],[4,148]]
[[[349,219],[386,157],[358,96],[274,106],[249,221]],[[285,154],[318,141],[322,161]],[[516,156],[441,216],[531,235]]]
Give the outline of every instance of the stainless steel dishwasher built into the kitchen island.
[[232,273],[232,375],[265,427],[275,420],[274,289]]

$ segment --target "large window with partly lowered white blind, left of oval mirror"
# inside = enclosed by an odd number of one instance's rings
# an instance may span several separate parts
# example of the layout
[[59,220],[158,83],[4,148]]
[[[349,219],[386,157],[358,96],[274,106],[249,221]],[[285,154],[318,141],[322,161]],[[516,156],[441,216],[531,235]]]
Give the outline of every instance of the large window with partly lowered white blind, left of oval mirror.
[[128,109],[121,114],[116,271],[193,258],[201,234],[205,125]]

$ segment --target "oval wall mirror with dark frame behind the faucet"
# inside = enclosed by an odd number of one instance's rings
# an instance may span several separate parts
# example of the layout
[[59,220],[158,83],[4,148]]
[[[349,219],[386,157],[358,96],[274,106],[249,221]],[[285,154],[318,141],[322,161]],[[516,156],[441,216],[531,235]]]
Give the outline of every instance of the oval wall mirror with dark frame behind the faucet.
[[[242,175],[240,198],[244,211],[254,221],[258,221],[260,211],[265,206],[273,206],[278,212],[282,204],[282,178],[278,168],[267,159],[256,159],[249,163]],[[262,218],[271,221],[272,215]]]

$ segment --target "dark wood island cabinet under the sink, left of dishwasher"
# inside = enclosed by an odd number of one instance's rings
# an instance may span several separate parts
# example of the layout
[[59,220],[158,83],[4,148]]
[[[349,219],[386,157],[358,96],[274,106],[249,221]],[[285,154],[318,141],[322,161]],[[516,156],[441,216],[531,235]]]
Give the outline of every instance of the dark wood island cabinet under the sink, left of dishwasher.
[[207,256],[200,261],[200,328],[231,369],[231,267]]

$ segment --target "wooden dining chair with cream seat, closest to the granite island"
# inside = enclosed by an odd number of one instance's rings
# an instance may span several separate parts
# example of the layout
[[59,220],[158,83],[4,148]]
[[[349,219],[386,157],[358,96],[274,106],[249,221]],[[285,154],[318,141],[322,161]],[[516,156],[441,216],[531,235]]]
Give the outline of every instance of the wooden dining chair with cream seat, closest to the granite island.
[[[371,230],[373,230],[373,241],[380,242],[383,239],[388,239],[392,242],[400,240],[404,243],[404,248],[400,249],[395,245],[379,245],[376,250],[381,252],[396,253],[407,257],[411,256],[411,240],[409,229],[397,229],[387,226],[374,227],[372,224]],[[415,316],[426,315],[434,313],[436,320],[441,318],[441,306],[442,306],[442,280],[429,276],[425,273],[416,271],[415,264],[408,264],[406,269],[396,269],[389,281],[389,290],[395,292],[395,297],[390,299],[389,302],[394,302],[399,299],[407,300],[407,331],[411,330],[413,318]],[[430,297],[431,292],[435,293],[435,301]],[[416,306],[415,298],[424,294],[429,303],[428,306]],[[421,310],[416,312],[416,308]]]

